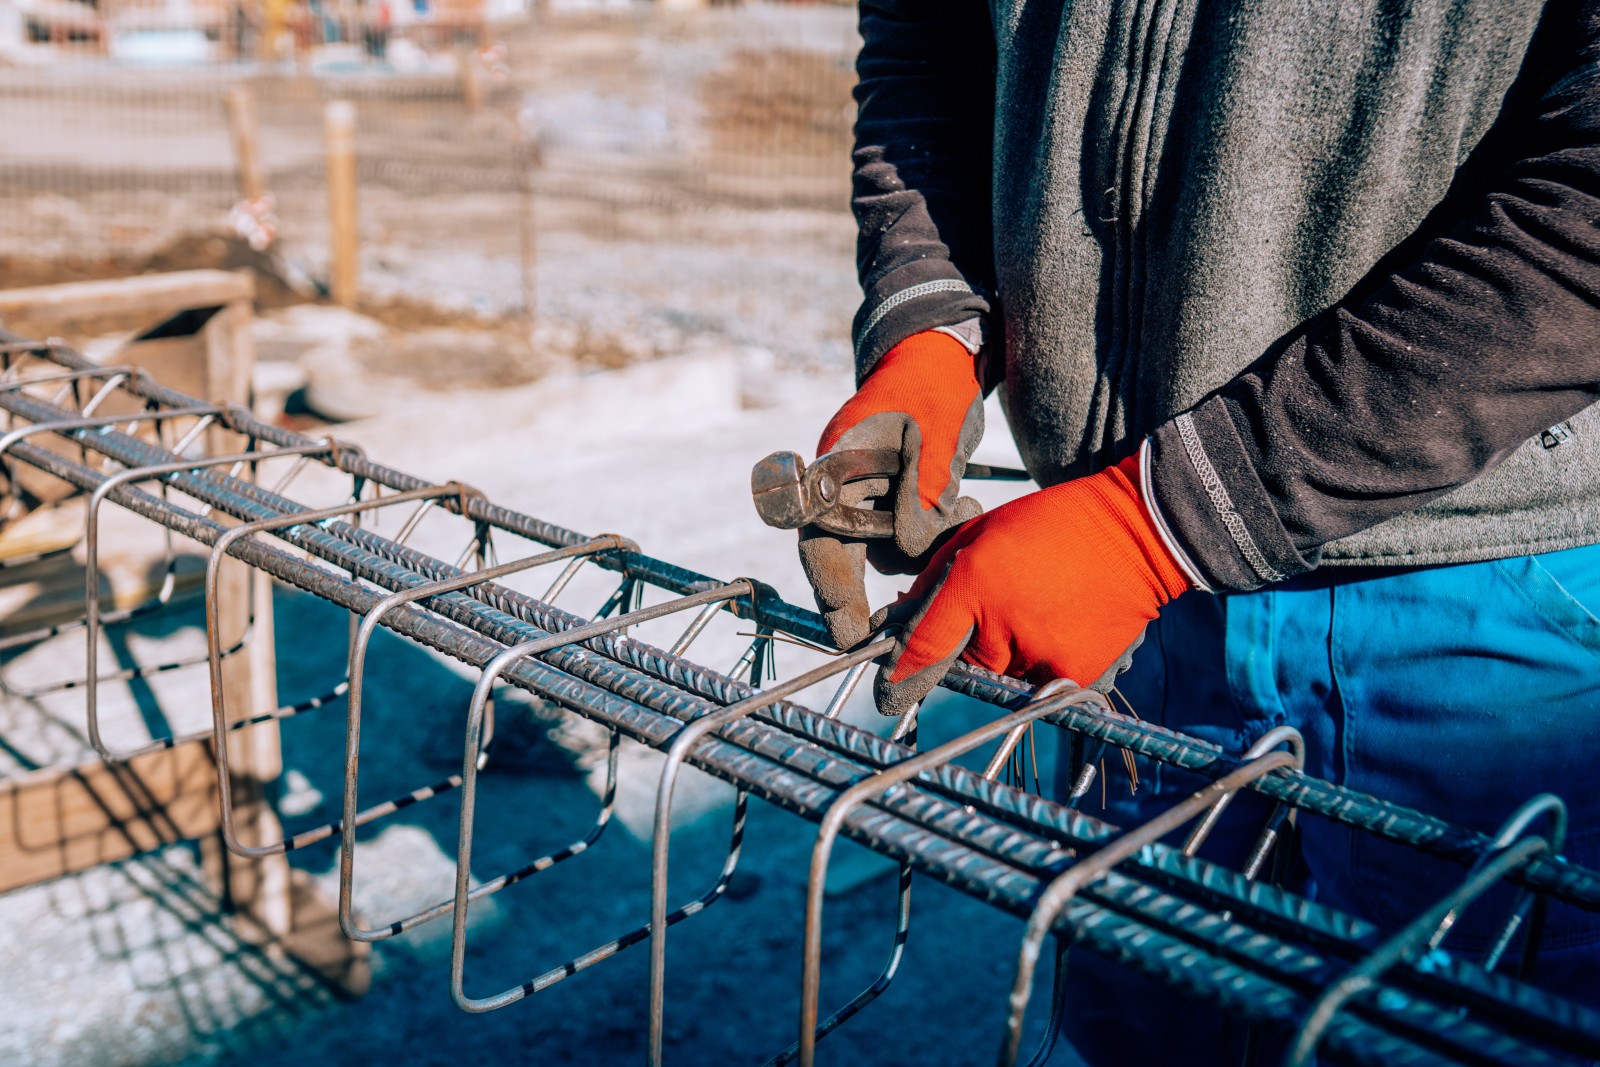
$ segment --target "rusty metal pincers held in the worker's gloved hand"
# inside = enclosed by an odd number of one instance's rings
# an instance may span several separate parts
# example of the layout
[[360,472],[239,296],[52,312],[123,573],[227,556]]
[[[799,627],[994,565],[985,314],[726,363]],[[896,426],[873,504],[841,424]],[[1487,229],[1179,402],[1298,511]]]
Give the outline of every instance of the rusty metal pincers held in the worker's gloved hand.
[[[810,467],[798,453],[773,453],[750,470],[750,496],[762,522],[778,530],[819,526],[843,537],[893,537],[894,515],[843,502],[845,486],[872,478],[898,478],[894,448],[846,448],[819,456]],[[966,464],[966,478],[1027,482],[1014,467]]]

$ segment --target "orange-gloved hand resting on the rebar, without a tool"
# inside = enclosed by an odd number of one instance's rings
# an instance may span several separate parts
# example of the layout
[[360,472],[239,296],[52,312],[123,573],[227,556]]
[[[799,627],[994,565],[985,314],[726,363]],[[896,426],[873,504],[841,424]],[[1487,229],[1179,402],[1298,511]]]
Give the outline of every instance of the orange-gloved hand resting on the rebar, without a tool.
[[1157,611],[1189,587],[1141,498],[1138,456],[1030,493],[962,526],[874,616],[906,625],[878,673],[878,710],[912,707],[957,656],[1104,693]]

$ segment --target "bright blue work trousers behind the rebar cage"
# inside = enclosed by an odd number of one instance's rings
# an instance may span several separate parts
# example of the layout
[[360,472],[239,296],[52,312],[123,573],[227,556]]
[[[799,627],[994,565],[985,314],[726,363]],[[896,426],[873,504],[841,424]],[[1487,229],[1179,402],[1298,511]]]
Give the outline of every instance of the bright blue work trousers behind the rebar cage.
[[[1571,814],[1563,854],[1600,867],[1597,616],[1600,545],[1326,568],[1253,593],[1179,597],[1118,689],[1142,718],[1230,752],[1286,723],[1306,737],[1309,774],[1485,833],[1534,793],[1557,793]],[[1106,768],[1104,817],[1123,827],[1203,784],[1141,761],[1130,795],[1122,761]],[[1064,781],[1058,789],[1066,793]],[[1098,787],[1083,809],[1101,813]],[[1266,811],[1262,797],[1240,795],[1202,854],[1238,869]],[[1328,819],[1302,813],[1299,830],[1294,888],[1384,929],[1466,877],[1459,864]],[[1480,899],[1445,949],[1483,952],[1509,904],[1509,889]],[[1554,904],[1531,981],[1600,1006],[1600,913]],[[1238,1064],[1238,1024],[1093,953],[1074,952],[1067,1005],[1066,1035],[1096,1067]]]

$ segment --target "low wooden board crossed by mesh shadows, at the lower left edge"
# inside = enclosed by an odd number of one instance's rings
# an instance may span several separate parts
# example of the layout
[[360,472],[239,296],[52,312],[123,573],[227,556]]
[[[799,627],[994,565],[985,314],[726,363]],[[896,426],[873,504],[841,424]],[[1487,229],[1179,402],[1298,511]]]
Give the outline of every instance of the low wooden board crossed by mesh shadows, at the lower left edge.
[[0,893],[214,833],[208,744],[0,779]]

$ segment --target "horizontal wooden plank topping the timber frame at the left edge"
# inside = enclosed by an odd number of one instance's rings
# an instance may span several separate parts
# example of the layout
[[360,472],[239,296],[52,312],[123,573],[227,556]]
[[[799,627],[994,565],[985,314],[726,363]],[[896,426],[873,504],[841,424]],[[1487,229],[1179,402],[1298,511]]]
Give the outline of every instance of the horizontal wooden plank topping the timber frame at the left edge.
[[248,272],[174,270],[109,282],[0,290],[0,322],[26,317],[30,323],[48,318],[77,325],[142,312],[168,315],[190,307],[219,307],[254,296],[256,282]]

